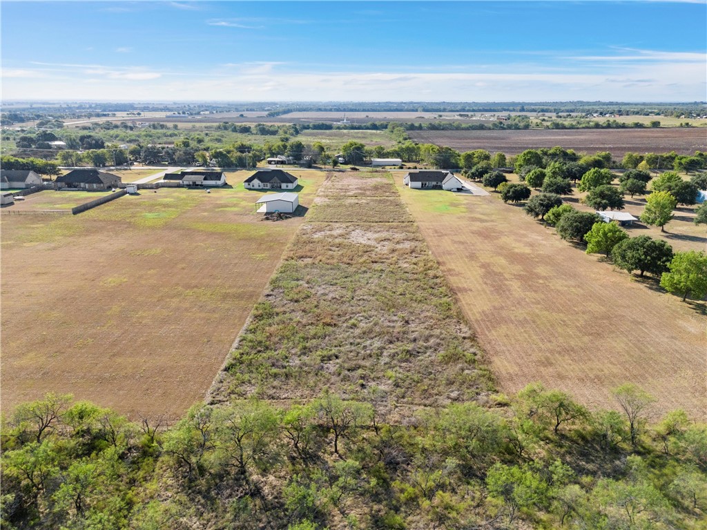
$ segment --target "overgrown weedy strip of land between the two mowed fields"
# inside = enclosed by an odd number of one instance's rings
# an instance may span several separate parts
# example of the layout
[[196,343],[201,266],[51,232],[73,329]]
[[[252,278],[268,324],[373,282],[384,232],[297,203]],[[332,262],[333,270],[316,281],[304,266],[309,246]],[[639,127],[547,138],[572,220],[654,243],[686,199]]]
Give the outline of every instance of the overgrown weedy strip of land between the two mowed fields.
[[[390,177],[332,177],[256,305],[212,399],[310,399],[324,388],[433,406],[492,389],[480,352]],[[387,180],[383,191],[382,179]],[[366,194],[368,187],[368,196]],[[373,196],[382,193],[382,196]],[[340,200],[366,215],[341,218]],[[368,218],[386,201],[387,215]],[[373,205],[373,206],[372,206]],[[318,222],[337,218],[337,222]],[[375,392],[374,392],[375,393]]]

